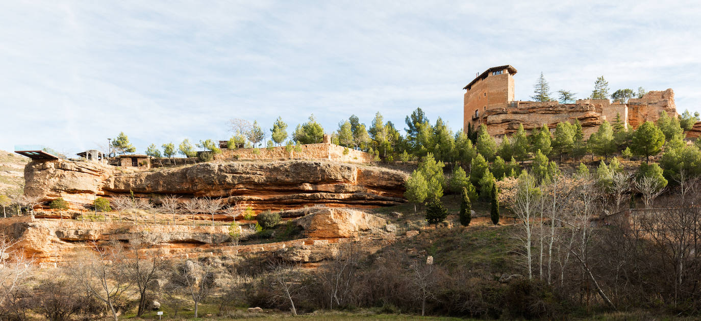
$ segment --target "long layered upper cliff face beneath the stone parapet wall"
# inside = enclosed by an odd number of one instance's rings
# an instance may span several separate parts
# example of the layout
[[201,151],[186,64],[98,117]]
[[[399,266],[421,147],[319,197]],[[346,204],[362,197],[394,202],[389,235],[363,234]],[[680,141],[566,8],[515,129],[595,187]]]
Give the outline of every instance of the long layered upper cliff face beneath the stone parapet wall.
[[214,162],[130,172],[94,163],[46,161],[25,168],[25,193],[83,204],[92,203],[95,195],[132,191],[137,197],[224,198],[255,210],[315,204],[368,208],[404,203],[407,177],[396,170],[326,161]]

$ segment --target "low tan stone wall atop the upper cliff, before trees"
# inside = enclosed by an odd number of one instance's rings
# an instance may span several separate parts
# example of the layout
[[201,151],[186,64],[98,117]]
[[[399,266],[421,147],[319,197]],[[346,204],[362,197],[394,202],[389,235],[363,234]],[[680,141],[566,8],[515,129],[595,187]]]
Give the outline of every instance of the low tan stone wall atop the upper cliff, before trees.
[[[345,154],[343,151],[347,151]],[[259,149],[232,149],[215,156],[218,161],[286,161],[291,159],[320,159],[344,163],[370,163],[372,155],[364,151],[346,149],[336,144],[304,144],[301,151],[288,153],[285,146]]]

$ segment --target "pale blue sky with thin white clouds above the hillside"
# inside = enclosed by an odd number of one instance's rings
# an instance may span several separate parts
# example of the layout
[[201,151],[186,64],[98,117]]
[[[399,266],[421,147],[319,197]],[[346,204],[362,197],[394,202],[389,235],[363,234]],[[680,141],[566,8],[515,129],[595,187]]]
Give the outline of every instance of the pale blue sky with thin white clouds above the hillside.
[[227,120],[313,114],[326,132],[421,107],[453,130],[462,88],[511,64],[517,100],[673,88],[701,111],[697,1],[2,1],[0,149],[72,154],[125,132],[137,152],[228,139]]

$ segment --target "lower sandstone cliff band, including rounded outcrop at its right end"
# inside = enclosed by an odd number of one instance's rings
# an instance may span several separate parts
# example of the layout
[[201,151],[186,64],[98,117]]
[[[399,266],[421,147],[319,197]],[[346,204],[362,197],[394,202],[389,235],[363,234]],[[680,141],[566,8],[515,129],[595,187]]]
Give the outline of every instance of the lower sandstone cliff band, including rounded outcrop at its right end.
[[[366,212],[314,207],[293,224],[303,230],[299,238],[276,243],[233,245],[232,226],[153,225],[72,219],[34,219],[11,217],[0,221],[0,234],[15,242],[15,254],[23,254],[35,263],[46,265],[72,260],[72,254],[95,245],[109,246],[120,241],[129,248],[134,240],[149,246],[139,251],[156,252],[161,257],[199,257],[202,255],[249,255],[280,252],[290,261],[316,262],[334,256],[336,245],[361,240],[386,243],[395,238],[387,232],[387,222]],[[252,231],[238,227],[241,240],[249,240]],[[381,235],[378,240],[362,238]],[[250,241],[250,240],[249,240]],[[376,242],[377,241],[377,242]],[[374,244],[372,246],[379,246]]]

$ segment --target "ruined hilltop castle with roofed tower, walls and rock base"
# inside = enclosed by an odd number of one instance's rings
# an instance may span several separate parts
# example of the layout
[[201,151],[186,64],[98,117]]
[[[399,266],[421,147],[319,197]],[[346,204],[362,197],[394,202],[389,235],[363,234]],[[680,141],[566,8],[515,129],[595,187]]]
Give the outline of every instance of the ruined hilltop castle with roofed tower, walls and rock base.
[[632,98],[621,104],[609,100],[577,100],[574,104],[557,101],[529,102],[515,100],[514,75],[511,65],[491,67],[470,81],[463,104],[463,130],[486,125],[489,134],[495,137],[511,135],[524,125],[531,130],[547,124],[551,129],[557,123],[574,121],[582,123],[585,136],[589,137],[601,123],[613,122],[617,114],[626,126],[637,128],[645,121],[657,121],[662,111],[676,116],[674,91],[651,91],[641,98]]

